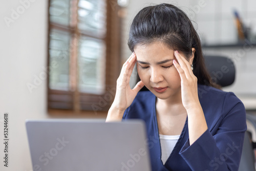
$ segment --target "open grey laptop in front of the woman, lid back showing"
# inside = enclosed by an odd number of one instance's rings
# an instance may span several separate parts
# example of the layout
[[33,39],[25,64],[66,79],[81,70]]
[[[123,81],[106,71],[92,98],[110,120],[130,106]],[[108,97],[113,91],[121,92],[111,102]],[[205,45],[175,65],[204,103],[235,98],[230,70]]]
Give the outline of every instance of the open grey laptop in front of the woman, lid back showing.
[[34,171],[151,170],[141,120],[26,120]]

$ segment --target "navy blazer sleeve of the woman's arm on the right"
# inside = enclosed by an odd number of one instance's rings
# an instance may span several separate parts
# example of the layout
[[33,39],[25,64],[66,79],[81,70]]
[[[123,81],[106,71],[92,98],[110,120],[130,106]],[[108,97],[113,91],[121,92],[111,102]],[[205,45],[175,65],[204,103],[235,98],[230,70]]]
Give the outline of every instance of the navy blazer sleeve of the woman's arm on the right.
[[247,130],[245,108],[233,93],[227,93],[221,112],[215,133],[208,127],[192,145],[189,139],[183,145],[180,155],[192,170],[238,170]]

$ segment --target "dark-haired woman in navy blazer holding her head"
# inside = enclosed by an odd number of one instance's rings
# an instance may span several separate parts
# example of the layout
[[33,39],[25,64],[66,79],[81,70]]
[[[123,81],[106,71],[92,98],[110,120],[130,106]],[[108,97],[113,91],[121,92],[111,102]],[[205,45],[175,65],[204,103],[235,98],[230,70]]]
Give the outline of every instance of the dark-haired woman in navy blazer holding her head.
[[[129,35],[132,55],[117,79],[106,121],[140,118],[152,170],[238,170],[246,116],[243,103],[214,88],[199,36],[179,8],[142,9]],[[141,79],[129,86],[134,66]],[[145,86],[149,91],[139,90]]]

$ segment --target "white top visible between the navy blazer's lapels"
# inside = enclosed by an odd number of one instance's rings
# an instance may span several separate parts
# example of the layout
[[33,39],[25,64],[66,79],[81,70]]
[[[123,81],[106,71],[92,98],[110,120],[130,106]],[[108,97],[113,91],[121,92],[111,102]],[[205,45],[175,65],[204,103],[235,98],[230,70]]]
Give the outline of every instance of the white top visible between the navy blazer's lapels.
[[162,152],[162,162],[163,164],[169,158],[170,153],[172,153],[180,135],[161,135],[159,134],[160,144],[161,144],[161,152]]

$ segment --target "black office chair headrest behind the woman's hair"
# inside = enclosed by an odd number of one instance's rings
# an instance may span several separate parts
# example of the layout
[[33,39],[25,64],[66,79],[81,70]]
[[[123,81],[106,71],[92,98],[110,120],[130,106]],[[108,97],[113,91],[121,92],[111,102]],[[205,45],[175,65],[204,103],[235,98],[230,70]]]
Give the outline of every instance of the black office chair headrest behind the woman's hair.
[[212,81],[221,87],[230,86],[234,82],[236,69],[230,58],[224,56],[205,56],[204,60]]

